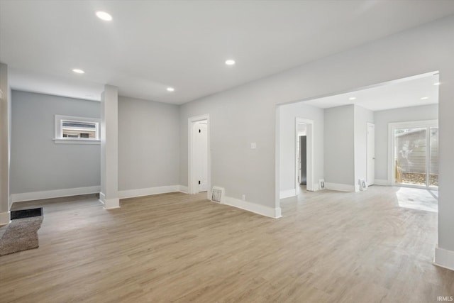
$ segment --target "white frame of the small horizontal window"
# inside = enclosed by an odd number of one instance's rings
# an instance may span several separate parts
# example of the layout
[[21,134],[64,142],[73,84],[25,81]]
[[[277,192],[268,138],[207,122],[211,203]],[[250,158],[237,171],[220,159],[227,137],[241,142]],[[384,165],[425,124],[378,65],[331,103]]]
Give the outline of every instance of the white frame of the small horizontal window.
[[[72,138],[63,137],[63,121],[73,121],[80,123],[95,123],[96,138]],[[77,117],[55,115],[55,144],[100,144],[101,140],[101,120],[98,118]]]

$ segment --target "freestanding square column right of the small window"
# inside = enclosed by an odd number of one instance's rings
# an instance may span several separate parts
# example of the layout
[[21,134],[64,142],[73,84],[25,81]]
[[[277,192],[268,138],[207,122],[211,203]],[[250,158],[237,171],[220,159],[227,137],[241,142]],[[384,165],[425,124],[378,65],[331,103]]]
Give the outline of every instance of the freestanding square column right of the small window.
[[120,207],[118,199],[118,88],[104,86],[101,94],[101,192],[104,209]]

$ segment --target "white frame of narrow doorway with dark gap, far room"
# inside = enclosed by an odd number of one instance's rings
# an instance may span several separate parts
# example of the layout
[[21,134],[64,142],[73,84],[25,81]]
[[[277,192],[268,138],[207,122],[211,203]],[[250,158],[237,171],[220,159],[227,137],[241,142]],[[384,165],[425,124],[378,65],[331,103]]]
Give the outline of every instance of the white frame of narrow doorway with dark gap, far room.
[[[295,148],[295,195],[298,194],[298,124],[306,124],[306,190],[313,192],[315,189],[314,185],[314,120],[295,118],[295,136],[294,136],[294,148]],[[309,127],[310,126],[310,127]],[[317,183],[318,184],[318,183]]]

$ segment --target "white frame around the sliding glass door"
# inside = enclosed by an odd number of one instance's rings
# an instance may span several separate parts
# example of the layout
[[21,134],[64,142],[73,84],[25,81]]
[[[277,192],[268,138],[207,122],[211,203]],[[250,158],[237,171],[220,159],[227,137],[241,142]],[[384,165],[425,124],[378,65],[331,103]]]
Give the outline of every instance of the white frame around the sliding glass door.
[[[423,188],[423,189],[437,189],[437,187],[428,186],[426,180],[426,186],[416,185],[416,184],[402,184],[396,183],[396,173],[394,170],[394,129],[395,128],[417,128],[417,127],[426,127],[431,128],[433,126],[438,127],[438,119],[435,120],[422,120],[422,121],[406,121],[406,122],[394,122],[388,123],[388,184],[391,186],[403,186],[403,187],[416,187],[416,188]],[[428,141],[428,136],[430,136],[430,132],[426,132],[426,142]],[[426,159],[430,159],[431,156],[431,147],[430,144],[426,144]],[[428,166],[428,162],[426,160],[426,169]],[[429,171],[426,170],[426,174],[429,174]]]

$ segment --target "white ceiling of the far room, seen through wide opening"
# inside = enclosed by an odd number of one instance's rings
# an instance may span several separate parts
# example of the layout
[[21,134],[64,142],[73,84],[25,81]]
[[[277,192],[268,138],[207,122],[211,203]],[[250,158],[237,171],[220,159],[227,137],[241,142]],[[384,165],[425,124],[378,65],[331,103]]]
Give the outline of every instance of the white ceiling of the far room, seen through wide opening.
[[[374,87],[304,101],[322,109],[357,104],[371,111],[438,103],[438,72],[377,84]],[[351,100],[350,98],[355,98]],[[421,99],[423,98],[423,99]]]

